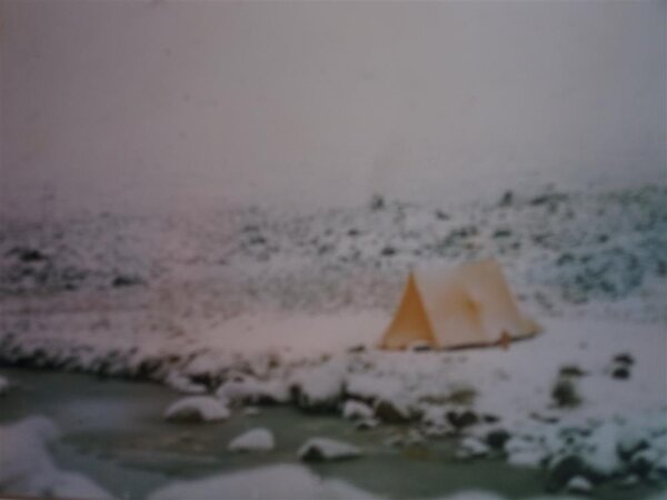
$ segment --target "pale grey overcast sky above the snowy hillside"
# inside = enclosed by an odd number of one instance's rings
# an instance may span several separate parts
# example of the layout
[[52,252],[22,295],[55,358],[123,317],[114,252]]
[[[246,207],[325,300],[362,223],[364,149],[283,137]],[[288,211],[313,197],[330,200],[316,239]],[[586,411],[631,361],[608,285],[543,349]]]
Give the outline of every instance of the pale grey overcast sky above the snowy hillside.
[[0,208],[667,180],[667,2],[1,1]]

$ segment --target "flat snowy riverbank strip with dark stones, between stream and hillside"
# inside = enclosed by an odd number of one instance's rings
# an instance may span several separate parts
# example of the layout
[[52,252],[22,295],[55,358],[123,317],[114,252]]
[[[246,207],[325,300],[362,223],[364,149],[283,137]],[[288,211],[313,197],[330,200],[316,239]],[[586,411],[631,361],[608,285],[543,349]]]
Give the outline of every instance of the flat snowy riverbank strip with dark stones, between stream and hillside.
[[[577,477],[666,482],[664,324],[550,319],[544,333],[507,350],[388,352],[374,348],[385,320],[380,312],[253,316],[199,342],[120,339],[126,351],[118,338],[90,342],[73,328],[4,336],[0,359],[148,378],[213,394],[231,411],[289,403],[360,427],[412,429],[397,446],[454,437],[461,460],[501,456],[546,468],[554,491]],[[269,332],[273,340],[259,342]],[[352,402],[367,410],[346,414]]]

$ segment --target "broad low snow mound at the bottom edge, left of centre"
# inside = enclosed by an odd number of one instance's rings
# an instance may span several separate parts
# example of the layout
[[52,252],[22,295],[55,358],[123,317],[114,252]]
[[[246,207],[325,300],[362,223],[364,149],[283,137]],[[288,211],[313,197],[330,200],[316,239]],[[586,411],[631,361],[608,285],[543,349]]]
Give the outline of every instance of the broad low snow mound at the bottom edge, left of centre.
[[323,479],[301,466],[281,464],[231,472],[160,489],[149,500],[181,499],[375,499],[344,481]]

